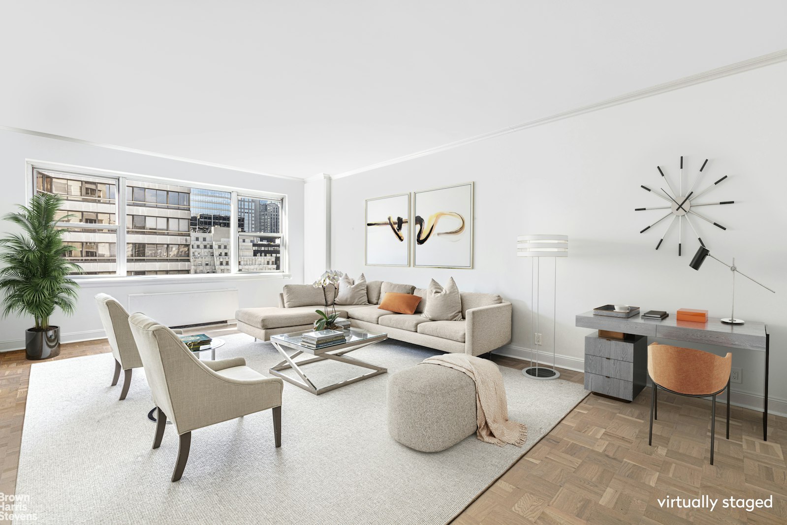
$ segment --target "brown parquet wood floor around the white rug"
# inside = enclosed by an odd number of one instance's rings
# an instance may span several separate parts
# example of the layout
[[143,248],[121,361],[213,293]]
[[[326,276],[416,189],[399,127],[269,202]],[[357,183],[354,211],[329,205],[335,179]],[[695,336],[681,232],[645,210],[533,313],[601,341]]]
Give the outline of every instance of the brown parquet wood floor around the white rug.
[[[234,326],[187,333],[237,333]],[[105,340],[63,345],[56,359],[108,352]],[[519,360],[493,357],[502,366]],[[30,364],[24,352],[0,353],[0,492],[13,493],[27,397]],[[562,379],[582,383],[581,372],[560,370]],[[110,380],[111,378],[108,378]],[[122,381],[122,379],[121,379]],[[549,402],[534,399],[533,402]],[[541,442],[469,505],[453,525],[733,525],[787,523],[787,419],[770,416],[768,441],[761,415],[733,407],[730,440],[724,438],[724,409],[717,407],[715,465],[710,460],[710,401],[660,394],[660,419],[648,446],[650,392],[633,403],[591,394]],[[664,497],[773,496],[773,508],[660,508]]]

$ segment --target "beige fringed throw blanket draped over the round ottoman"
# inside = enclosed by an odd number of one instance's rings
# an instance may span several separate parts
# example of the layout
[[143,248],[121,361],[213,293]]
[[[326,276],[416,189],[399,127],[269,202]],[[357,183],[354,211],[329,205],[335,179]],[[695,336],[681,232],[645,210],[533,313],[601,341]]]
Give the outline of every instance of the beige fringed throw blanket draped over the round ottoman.
[[497,364],[465,353],[446,353],[428,357],[427,364],[440,364],[464,372],[475,381],[475,405],[478,420],[478,439],[497,446],[511,443],[523,446],[527,441],[527,427],[508,420],[503,375]]

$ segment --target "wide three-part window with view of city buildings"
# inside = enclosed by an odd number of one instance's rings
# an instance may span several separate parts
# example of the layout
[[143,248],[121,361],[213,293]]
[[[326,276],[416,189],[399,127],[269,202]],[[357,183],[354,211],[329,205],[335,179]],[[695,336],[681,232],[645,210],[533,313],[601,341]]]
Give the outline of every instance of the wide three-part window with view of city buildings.
[[64,198],[58,227],[81,275],[283,272],[283,198],[142,178],[33,174],[37,192]]

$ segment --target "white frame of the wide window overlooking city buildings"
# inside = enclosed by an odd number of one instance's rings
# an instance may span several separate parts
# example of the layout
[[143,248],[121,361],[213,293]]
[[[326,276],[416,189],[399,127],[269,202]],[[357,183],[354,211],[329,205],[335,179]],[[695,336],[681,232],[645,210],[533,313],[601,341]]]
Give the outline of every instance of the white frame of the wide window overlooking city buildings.
[[[89,168],[87,166],[66,165],[51,161],[36,161],[28,159],[25,162],[26,178],[26,197],[27,201],[36,193],[35,172],[55,172],[65,176],[87,176],[101,177],[102,179],[112,179],[116,183],[116,224],[97,224],[100,229],[115,230],[117,232],[116,241],[116,275],[72,275],[72,279],[81,284],[88,283],[140,283],[140,282],[183,282],[190,279],[200,279],[202,282],[224,279],[289,279],[289,220],[287,215],[288,199],[286,194],[278,194],[268,191],[249,190],[247,188],[223,186],[220,184],[200,183],[184,179],[172,179],[168,177],[142,175],[139,173],[117,172],[101,168]],[[139,180],[148,183],[175,184],[180,186],[193,187],[205,190],[225,191],[231,195],[231,216],[230,229],[230,272],[229,273],[195,273],[187,275],[127,275],[126,261],[126,187],[127,180]],[[279,224],[281,233],[281,269],[273,272],[238,272],[238,195],[241,197],[259,198],[264,200],[280,201],[281,210]],[[73,227],[73,223],[58,223],[58,226]],[[83,227],[83,224],[79,224]],[[87,227],[92,227],[88,224]],[[189,242],[191,244],[191,242]]]

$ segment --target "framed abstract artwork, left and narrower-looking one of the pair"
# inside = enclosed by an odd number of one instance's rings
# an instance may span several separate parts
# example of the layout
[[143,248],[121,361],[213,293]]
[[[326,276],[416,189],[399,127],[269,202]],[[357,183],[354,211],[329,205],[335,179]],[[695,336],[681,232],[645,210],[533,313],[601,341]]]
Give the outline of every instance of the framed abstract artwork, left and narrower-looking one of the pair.
[[366,199],[367,266],[410,265],[410,194]]

